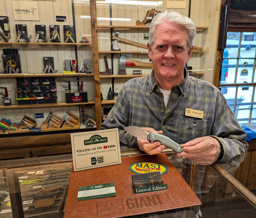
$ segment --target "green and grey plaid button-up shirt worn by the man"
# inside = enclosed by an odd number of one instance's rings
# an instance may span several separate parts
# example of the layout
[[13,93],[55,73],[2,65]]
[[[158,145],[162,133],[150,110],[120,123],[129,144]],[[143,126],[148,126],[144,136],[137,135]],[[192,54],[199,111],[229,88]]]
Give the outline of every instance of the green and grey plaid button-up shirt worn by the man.
[[[212,136],[224,148],[224,156],[218,163],[233,172],[247,154],[246,133],[218,88],[189,76],[186,68],[184,73],[184,81],[172,87],[166,108],[154,69],[151,75],[126,82],[102,129],[119,128],[119,140],[128,147],[138,147],[138,144],[136,137],[124,130],[127,126],[162,130],[163,135],[179,144]],[[204,111],[203,119],[185,116],[186,108]]]

